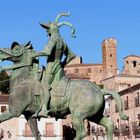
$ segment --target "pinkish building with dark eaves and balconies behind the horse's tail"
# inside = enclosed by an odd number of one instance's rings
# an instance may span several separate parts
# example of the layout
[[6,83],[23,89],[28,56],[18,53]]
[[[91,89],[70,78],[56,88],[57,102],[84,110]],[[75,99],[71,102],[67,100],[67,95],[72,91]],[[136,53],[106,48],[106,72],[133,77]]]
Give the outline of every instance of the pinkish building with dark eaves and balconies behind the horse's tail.
[[119,94],[123,100],[124,113],[128,116],[128,120],[120,120],[116,103],[111,100],[108,115],[115,124],[113,140],[139,140],[140,83],[120,91]]

